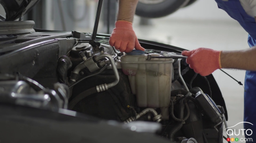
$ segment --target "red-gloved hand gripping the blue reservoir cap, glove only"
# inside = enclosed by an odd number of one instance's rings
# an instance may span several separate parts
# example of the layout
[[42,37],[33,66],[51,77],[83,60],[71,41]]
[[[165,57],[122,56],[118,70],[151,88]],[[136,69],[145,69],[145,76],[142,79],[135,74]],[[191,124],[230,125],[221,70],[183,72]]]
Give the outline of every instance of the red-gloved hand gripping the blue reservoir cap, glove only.
[[109,44],[121,52],[129,53],[135,47],[137,50],[145,49],[139,44],[138,38],[133,31],[133,23],[129,21],[117,21],[109,39]]

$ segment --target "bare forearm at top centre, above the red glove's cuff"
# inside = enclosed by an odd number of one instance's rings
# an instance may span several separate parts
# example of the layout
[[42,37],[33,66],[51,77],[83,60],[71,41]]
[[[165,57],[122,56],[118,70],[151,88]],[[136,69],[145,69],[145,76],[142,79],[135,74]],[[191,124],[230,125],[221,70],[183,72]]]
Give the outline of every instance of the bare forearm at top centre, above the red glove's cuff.
[[132,23],[138,1],[119,0],[117,20],[126,20]]

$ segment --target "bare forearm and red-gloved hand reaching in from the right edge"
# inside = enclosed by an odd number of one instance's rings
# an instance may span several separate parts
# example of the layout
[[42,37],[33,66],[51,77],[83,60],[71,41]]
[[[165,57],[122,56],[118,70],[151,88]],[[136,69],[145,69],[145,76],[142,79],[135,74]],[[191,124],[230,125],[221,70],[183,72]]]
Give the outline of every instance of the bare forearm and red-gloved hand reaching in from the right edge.
[[216,51],[199,48],[192,51],[183,51],[188,56],[187,63],[196,73],[207,76],[220,68],[234,68],[256,71],[256,46],[246,50]]

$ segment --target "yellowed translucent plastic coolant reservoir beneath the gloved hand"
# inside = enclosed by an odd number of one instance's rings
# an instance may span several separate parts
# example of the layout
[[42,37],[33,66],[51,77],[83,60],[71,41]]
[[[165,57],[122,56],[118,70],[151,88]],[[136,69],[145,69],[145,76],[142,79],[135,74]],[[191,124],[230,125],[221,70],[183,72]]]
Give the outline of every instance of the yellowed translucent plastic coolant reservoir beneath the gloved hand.
[[[162,57],[160,54],[150,55]],[[170,58],[147,60],[147,54],[121,57],[122,71],[129,76],[139,107],[169,107],[173,62]]]

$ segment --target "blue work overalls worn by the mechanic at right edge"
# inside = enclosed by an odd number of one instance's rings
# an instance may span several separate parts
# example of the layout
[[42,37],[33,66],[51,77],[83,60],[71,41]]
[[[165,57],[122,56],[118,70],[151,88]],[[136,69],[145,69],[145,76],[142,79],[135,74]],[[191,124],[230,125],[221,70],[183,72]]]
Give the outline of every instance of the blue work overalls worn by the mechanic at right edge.
[[[239,0],[215,0],[218,4],[218,8],[226,11],[230,17],[237,20],[240,25],[249,33],[248,44],[250,47],[256,45],[256,23],[255,19],[250,15],[247,15],[243,9]],[[256,0],[255,0],[256,1]],[[256,55],[255,55],[256,56]],[[255,61],[256,62],[256,61]],[[251,124],[244,123],[245,129],[251,129],[253,134],[246,138],[253,138],[256,141],[256,71],[246,71],[245,75],[245,93],[244,93],[244,122],[250,122]],[[250,134],[250,133],[249,133]]]

